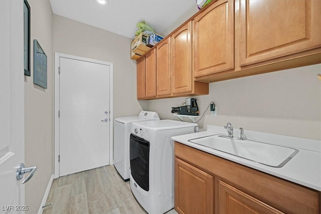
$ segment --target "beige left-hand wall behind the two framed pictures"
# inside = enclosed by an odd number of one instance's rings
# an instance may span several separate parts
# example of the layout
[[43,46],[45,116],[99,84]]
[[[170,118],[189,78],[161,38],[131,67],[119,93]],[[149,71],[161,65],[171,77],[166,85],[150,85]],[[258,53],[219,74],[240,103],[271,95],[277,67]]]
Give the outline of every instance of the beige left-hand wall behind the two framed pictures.
[[[53,173],[53,50],[52,10],[49,0],[29,0],[31,8],[31,77],[25,77],[25,164],[37,166],[26,183],[28,213],[37,213]],[[33,41],[47,55],[47,89],[33,83]]]

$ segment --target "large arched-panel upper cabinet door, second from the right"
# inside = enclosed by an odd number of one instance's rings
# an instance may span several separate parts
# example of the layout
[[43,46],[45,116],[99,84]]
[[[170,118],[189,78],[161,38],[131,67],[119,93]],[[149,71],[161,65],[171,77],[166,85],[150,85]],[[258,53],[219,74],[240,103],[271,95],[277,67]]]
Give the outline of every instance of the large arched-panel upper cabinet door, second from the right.
[[194,75],[234,68],[234,2],[219,0],[193,20]]

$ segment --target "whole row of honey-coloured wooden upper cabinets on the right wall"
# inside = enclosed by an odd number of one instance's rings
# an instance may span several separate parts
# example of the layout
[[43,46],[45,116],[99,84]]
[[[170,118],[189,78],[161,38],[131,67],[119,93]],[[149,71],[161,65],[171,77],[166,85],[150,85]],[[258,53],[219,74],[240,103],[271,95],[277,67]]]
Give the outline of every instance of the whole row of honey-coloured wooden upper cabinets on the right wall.
[[156,95],[148,82],[140,99],[208,94],[201,83],[320,63],[320,11],[321,0],[212,1],[150,50]]

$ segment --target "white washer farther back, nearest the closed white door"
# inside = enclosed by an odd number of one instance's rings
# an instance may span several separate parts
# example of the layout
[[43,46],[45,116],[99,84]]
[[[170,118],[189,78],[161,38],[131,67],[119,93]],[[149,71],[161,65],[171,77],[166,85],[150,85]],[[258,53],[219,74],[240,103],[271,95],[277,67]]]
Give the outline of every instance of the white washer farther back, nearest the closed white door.
[[141,111],[138,116],[118,117],[114,120],[114,166],[121,177],[129,180],[129,135],[134,121],[159,120],[156,112]]

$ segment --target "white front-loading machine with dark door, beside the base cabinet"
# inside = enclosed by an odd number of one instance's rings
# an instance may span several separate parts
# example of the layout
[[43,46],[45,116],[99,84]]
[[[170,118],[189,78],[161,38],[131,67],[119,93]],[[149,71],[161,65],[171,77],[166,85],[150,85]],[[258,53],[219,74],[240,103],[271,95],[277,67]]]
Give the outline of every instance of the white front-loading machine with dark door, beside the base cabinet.
[[172,136],[198,131],[195,123],[176,120],[133,122],[130,128],[130,188],[148,213],[174,207]]

